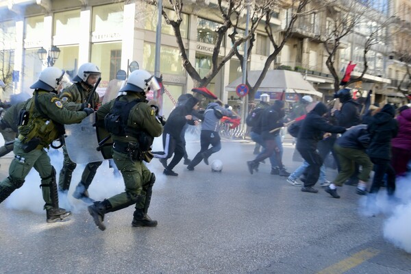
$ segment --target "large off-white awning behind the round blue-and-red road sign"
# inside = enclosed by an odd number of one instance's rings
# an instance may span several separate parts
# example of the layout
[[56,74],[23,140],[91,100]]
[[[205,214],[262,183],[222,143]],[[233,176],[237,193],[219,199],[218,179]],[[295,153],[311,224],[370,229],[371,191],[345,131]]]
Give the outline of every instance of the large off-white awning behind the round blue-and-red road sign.
[[[255,85],[261,71],[249,71],[248,80],[251,86]],[[236,87],[242,84],[242,77],[238,77],[232,83],[225,87],[227,91],[236,91]],[[301,94],[314,95],[323,97],[323,93],[318,92],[303,78],[301,73],[295,71],[271,70],[267,71],[266,77],[262,80],[259,92],[282,92],[286,93],[297,92]]]

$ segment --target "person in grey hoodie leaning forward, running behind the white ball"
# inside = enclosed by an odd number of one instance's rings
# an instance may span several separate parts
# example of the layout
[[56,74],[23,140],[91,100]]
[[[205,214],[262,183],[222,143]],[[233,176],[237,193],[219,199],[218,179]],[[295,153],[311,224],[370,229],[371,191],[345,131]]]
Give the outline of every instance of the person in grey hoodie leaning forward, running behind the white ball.
[[[194,167],[204,160],[208,164],[208,158],[212,153],[221,149],[221,138],[219,135],[219,122],[223,116],[232,116],[232,107],[223,108],[221,102],[212,102],[207,105],[201,125],[200,145],[201,149],[195,158],[188,164],[187,169],[194,171]],[[211,147],[210,147],[211,145]],[[210,147],[210,149],[208,148]]]

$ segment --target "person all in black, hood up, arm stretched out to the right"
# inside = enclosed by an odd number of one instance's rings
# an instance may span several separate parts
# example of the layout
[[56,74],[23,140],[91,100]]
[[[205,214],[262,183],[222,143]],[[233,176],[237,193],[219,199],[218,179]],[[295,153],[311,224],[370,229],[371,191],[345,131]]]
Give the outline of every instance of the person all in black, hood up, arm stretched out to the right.
[[304,171],[304,179],[301,179],[304,183],[301,188],[303,192],[316,193],[319,191],[312,188],[319,179],[320,168],[323,164],[323,159],[316,151],[319,140],[323,139],[325,132],[344,133],[346,131],[345,127],[327,123],[324,118],[327,112],[328,109],[325,104],[317,103],[314,109],[308,112],[299,130],[297,150],[309,164],[306,171]]

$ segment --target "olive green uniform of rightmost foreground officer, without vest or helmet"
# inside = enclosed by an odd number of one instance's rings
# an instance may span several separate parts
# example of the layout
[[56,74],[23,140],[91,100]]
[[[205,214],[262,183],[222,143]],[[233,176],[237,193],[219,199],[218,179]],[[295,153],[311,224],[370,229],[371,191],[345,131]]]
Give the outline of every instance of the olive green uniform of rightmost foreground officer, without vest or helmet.
[[[140,99],[145,101],[145,96],[138,92],[127,92],[127,95],[121,97],[119,101],[133,101]],[[101,121],[112,110],[114,102],[112,100],[102,105],[97,110],[97,121]],[[156,119],[155,111],[145,102],[137,103],[130,110],[127,119],[127,127],[132,129],[142,129],[151,138],[158,137],[162,134],[162,124]],[[99,123],[99,122],[98,122]],[[128,206],[135,204],[134,220],[132,225],[134,226],[155,226],[157,221],[151,221],[147,215],[149,203],[151,200],[151,191],[155,182],[154,173],[151,173],[147,166],[142,163],[142,160],[133,158],[130,154],[130,145],[139,145],[138,138],[133,134],[127,134],[127,136],[116,136],[112,134],[113,145],[113,160],[116,166],[123,175],[125,192],[118,195],[114,195],[104,201],[96,201],[93,206],[101,216],[101,230],[105,229],[102,224],[102,219],[105,213],[121,210]],[[144,151],[144,160],[149,162],[151,160],[151,152]],[[92,212],[90,211],[90,214]]]

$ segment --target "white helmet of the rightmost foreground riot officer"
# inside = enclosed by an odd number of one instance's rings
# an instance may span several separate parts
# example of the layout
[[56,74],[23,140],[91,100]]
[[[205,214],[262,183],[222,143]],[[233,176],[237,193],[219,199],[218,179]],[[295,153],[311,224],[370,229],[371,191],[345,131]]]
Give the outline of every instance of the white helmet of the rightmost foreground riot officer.
[[143,71],[138,69],[133,71],[128,79],[127,83],[119,92],[121,91],[132,91],[132,92],[147,92],[149,90],[159,90],[160,85],[151,73],[148,71]]

